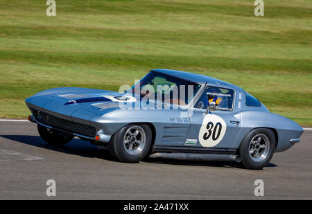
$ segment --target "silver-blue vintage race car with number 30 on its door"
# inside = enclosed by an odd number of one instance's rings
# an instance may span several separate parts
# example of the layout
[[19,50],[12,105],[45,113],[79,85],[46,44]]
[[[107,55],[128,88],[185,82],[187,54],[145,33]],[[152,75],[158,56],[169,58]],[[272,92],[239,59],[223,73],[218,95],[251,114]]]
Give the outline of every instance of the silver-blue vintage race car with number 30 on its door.
[[47,143],[64,145],[77,136],[130,163],[144,157],[232,160],[259,170],[304,132],[241,87],[168,69],[154,69],[119,92],[47,89],[26,105]]

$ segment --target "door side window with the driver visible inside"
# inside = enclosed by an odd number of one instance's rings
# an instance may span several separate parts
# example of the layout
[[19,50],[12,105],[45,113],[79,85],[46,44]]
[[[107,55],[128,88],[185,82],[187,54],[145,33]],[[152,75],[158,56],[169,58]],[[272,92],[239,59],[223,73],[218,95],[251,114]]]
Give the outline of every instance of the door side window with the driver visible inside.
[[208,102],[216,102],[216,109],[231,111],[233,109],[234,91],[220,87],[207,87],[194,107],[207,109]]

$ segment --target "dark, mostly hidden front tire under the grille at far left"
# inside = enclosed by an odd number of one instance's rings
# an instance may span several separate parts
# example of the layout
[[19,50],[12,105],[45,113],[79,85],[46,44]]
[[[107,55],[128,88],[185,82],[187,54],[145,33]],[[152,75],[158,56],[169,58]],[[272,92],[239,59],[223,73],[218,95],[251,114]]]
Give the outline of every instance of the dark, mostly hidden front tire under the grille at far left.
[[51,132],[47,127],[37,124],[38,132],[41,138],[51,145],[64,145],[73,139],[72,134],[65,134],[62,132]]

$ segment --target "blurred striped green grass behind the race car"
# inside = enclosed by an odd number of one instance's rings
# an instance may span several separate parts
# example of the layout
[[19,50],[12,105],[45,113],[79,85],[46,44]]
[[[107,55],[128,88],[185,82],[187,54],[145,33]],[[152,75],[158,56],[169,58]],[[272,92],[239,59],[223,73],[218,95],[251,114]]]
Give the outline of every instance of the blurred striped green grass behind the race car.
[[312,125],[312,2],[253,0],[0,2],[0,117],[53,87],[118,90],[150,69],[243,87],[271,112]]

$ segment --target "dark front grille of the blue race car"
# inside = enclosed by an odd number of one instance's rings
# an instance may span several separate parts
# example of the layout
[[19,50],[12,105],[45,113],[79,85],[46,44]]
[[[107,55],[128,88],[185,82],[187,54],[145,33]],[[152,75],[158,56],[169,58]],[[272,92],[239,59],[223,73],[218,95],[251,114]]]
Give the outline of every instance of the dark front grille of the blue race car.
[[60,130],[82,134],[89,137],[94,137],[96,135],[96,129],[90,125],[67,121],[36,110],[33,110],[33,116],[35,116],[35,119],[40,123],[59,128]]

